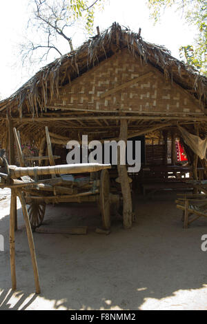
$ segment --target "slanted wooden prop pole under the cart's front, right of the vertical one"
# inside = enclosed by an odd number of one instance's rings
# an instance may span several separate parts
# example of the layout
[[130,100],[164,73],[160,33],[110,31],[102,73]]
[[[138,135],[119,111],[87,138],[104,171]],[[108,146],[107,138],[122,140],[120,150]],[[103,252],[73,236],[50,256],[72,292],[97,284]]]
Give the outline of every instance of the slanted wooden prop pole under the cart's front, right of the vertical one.
[[35,282],[35,287],[36,287],[36,294],[39,294],[40,293],[39,274],[38,274],[38,269],[37,269],[37,259],[36,259],[36,254],[35,254],[35,250],[34,250],[34,241],[33,241],[33,236],[32,236],[30,220],[29,220],[29,216],[28,216],[28,210],[26,208],[26,201],[24,199],[24,196],[23,196],[23,193],[21,192],[21,190],[18,191],[18,196],[21,201],[23,218],[24,218],[24,221],[26,224],[28,243],[29,243],[30,254],[31,254],[31,259],[32,259],[32,267],[33,267],[33,271],[34,271],[34,282]]

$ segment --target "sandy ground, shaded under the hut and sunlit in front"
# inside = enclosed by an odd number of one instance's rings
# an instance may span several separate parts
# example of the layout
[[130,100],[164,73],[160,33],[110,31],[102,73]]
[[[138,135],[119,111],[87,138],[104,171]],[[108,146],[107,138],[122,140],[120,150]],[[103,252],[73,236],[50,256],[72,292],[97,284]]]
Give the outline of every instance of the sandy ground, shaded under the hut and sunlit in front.
[[34,233],[41,294],[34,280],[18,202],[17,291],[10,290],[9,190],[0,190],[0,310],[207,310],[207,220],[182,228],[175,195],[137,197],[137,221],[123,230],[113,219],[109,235],[95,233],[94,205],[49,205],[45,224],[88,225],[87,235]]

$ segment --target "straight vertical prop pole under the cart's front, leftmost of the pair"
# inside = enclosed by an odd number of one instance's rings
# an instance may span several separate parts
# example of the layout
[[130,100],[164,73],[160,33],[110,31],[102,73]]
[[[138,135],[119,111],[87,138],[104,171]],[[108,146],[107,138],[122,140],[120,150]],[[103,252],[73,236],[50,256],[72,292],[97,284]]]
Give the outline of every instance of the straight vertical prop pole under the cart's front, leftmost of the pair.
[[17,195],[14,189],[11,190],[10,201],[10,267],[12,277],[12,290],[17,289],[16,269],[15,269],[15,240],[14,240],[14,227],[15,227],[15,210],[17,211]]

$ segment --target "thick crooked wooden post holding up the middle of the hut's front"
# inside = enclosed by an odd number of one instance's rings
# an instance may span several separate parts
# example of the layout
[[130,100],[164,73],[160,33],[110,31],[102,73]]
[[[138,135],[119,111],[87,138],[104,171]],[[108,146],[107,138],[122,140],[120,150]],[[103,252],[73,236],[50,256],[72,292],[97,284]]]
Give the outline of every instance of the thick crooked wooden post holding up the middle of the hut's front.
[[[119,140],[127,141],[128,124],[126,119],[121,119]],[[128,229],[132,227],[132,196],[130,192],[130,184],[128,181],[128,174],[126,165],[120,164],[120,147],[118,146],[117,168],[119,172],[119,181],[121,183],[121,192],[123,196],[124,210],[123,210],[123,225]]]

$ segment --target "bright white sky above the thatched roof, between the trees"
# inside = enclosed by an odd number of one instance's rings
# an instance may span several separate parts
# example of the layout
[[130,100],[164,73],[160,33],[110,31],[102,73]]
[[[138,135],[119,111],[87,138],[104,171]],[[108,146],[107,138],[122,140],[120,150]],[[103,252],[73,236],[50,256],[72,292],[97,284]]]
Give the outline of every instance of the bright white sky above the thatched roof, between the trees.
[[[1,99],[9,97],[41,68],[41,65],[37,65],[32,72],[29,72],[28,68],[23,68],[21,64],[18,46],[23,40],[28,19],[28,0],[0,1]],[[95,14],[95,26],[105,30],[115,21],[130,27],[130,30],[135,32],[141,28],[141,36],[144,40],[164,45],[177,59],[179,59],[179,47],[193,43],[196,34],[195,28],[189,27],[181,14],[174,12],[172,8],[166,10],[161,21],[154,25],[149,19],[146,0],[106,0],[104,10]],[[34,37],[34,32],[31,32],[29,37]],[[86,36],[80,30],[73,32],[72,43],[75,48],[85,39]]]

